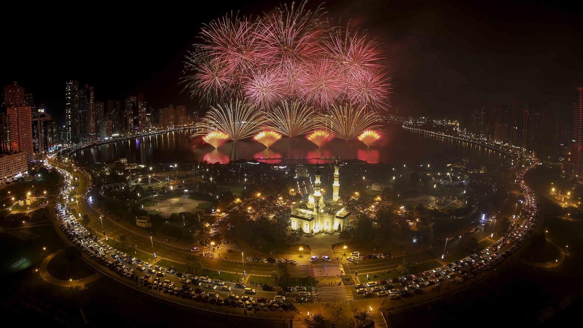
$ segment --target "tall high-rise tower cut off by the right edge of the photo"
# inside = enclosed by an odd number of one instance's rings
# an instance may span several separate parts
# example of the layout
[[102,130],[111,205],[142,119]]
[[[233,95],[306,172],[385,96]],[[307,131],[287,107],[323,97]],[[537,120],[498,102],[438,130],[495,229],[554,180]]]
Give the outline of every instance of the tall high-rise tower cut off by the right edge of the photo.
[[565,174],[577,182],[583,182],[583,86],[577,88],[573,106],[573,137],[571,151],[564,163]]

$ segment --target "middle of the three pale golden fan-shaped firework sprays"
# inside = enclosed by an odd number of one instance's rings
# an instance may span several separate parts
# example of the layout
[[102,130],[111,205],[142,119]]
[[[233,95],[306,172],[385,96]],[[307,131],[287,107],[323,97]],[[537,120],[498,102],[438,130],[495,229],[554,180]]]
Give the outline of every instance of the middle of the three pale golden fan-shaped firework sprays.
[[266,114],[269,119],[269,127],[287,137],[295,137],[313,131],[319,117],[319,114],[314,111],[314,107],[303,106],[298,102],[291,104],[283,102]]

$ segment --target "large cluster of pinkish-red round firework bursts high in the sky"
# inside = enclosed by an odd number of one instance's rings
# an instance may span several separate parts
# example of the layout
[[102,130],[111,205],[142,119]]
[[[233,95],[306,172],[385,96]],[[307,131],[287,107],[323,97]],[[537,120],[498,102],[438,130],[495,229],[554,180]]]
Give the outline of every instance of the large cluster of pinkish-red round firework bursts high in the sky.
[[187,57],[183,81],[191,96],[212,104],[242,99],[269,110],[282,101],[318,109],[345,102],[384,107],[389,79],[380,46],[366,32],[333,27],[321,14],[302,2],[210,22]]

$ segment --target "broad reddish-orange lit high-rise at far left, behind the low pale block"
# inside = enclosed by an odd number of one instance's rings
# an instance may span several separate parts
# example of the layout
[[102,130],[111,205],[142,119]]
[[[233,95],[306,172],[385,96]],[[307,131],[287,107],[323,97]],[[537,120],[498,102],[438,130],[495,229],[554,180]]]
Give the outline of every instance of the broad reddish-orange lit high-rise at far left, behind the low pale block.
[[31,106],[10,107],[6,110],[10,128],[10,151],[25,152],[27,161],[34,159],[31,111]]

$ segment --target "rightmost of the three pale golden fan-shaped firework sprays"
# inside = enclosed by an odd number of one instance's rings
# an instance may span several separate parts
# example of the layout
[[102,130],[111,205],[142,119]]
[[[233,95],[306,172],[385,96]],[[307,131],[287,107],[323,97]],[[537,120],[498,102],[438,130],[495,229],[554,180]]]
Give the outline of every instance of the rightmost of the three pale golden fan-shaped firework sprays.
[[330,113],[324,115],[326,130],[335,138],[350,140],[365,130],[380,128],[377,114],[367,111],[364,107],[355,109],[354,106],[332,106]]

